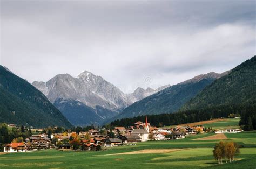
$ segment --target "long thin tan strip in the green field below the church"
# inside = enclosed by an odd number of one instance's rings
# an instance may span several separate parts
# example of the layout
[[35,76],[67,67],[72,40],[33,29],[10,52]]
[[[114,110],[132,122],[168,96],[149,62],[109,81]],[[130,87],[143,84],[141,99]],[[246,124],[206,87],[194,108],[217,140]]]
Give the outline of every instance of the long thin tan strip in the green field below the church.
[[145,150],[132,151],[132,152],[123,152],[123,153],[116,153],[116,154],[106,154],[104,156],[127,155],[127,154],[169,153],[169,152],[180,151],[180,150],[187,150],[187,149],[145,149]]

